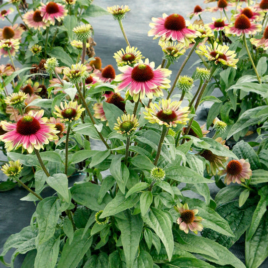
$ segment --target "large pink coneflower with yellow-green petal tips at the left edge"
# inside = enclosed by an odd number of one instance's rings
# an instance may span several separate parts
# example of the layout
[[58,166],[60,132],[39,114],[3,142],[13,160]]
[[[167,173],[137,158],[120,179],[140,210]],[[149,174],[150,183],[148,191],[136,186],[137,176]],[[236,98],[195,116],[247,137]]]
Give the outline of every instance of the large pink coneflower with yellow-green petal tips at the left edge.
[[14,124],[2,121],[3,129],[8,131],[0,137],[5,142],[5,148],[11,151],[22,146],[32,153],[34,149],[44,149],[44,144],[57,139],[55,125],[46,123],[47,118],[42,118],[43,115],[44,110],[35,114],[30,111]]

